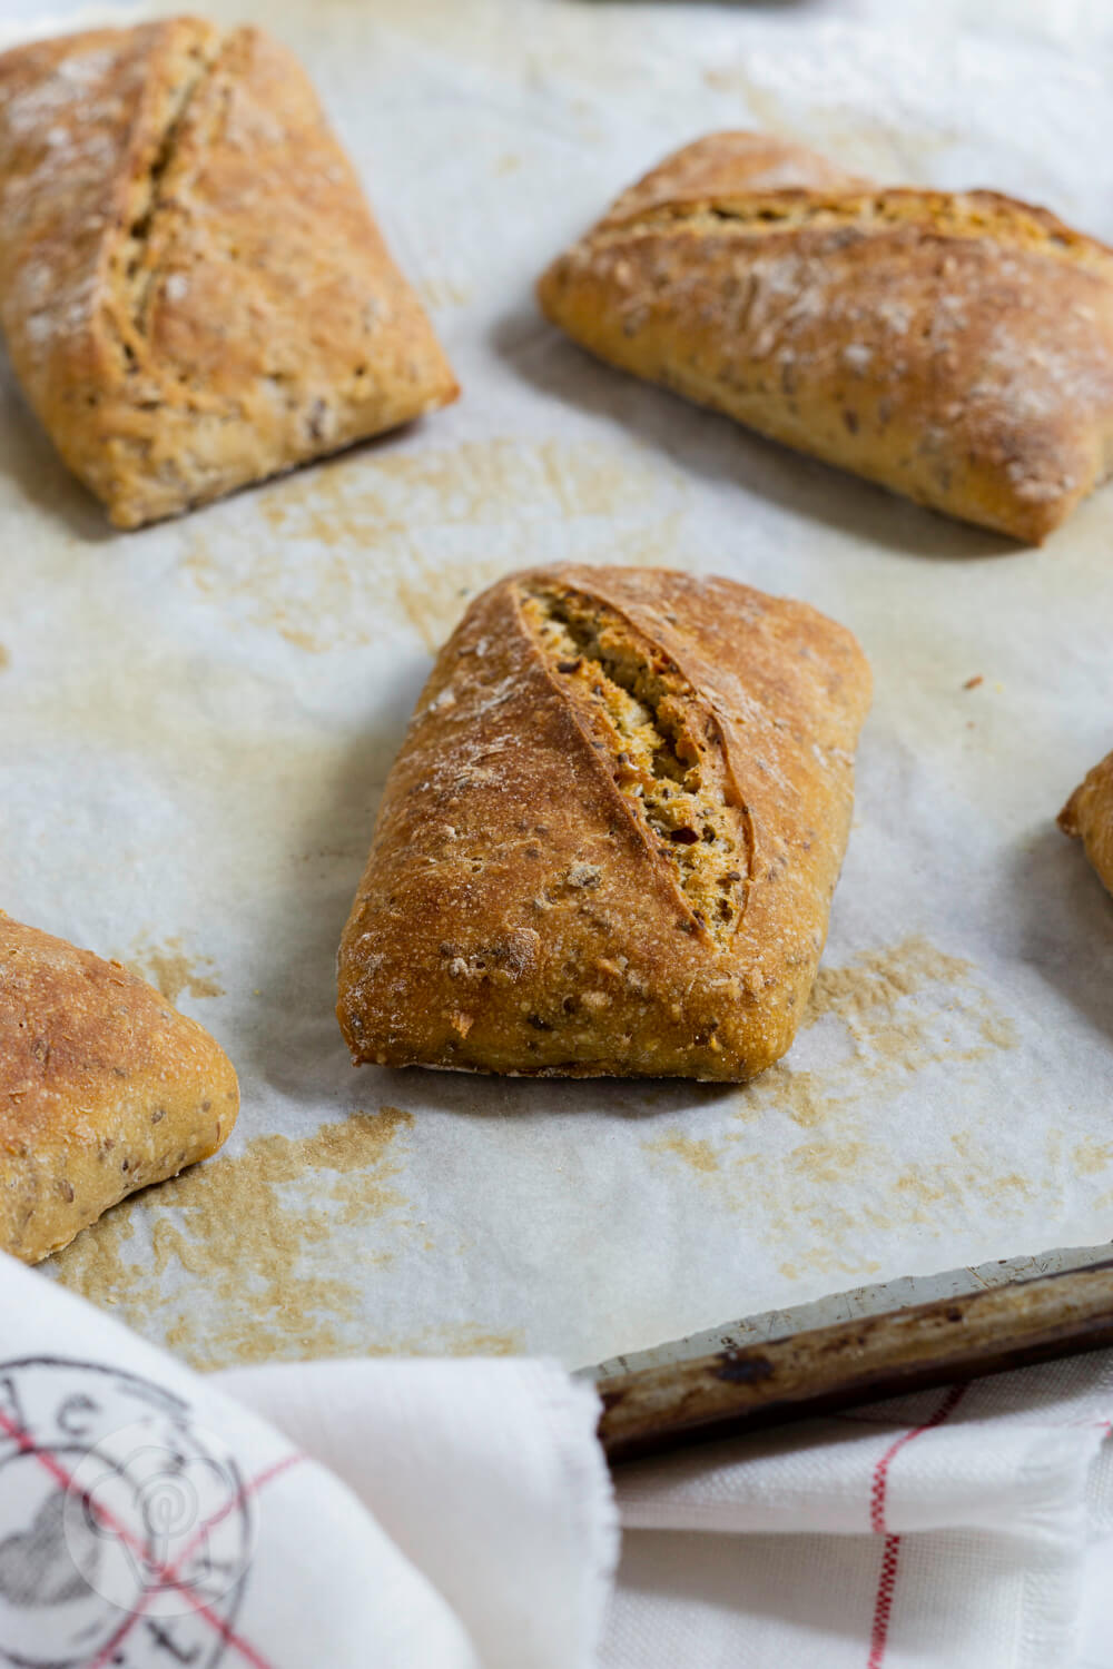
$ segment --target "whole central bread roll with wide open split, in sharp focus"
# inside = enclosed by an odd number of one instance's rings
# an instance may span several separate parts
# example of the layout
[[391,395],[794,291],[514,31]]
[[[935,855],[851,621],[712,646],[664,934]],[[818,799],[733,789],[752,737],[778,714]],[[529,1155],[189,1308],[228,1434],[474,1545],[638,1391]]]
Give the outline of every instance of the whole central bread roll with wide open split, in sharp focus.
[[739,1080],[789,1046],[869,668],[729,579],[512,574],[441,651],[340,943],[357,1061]]

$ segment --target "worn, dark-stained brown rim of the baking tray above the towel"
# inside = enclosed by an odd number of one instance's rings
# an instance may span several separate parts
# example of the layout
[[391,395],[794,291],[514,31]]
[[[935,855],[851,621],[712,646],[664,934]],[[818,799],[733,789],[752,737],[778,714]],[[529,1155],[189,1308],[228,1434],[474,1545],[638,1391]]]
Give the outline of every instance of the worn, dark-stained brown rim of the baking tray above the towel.
[[[589,1370],[607,1460],[1113,1345],[1110,1247],[1003,1260],[904,1288],[839,1293]],[[901,1302],[906,1295],[913,1302]]]

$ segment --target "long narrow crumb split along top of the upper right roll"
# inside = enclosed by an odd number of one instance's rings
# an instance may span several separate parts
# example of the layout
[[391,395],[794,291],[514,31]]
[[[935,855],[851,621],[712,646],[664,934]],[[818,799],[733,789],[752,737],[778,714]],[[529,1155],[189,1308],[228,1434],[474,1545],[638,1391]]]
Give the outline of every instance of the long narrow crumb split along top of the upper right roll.
[[754,192],[729,197],[716,192],[706,202],[664,202],[626,219],[604,220],[594,239],[659,232],[662,224],[689,232],[736,227],[748,237],[798,225],[929,225],[939,237],[990,237],[1011,247],[1055,254],[1083,265],[1101,265],[1110,250],[1051,214],[990,194],[918,192],[904,187],[884,192]]

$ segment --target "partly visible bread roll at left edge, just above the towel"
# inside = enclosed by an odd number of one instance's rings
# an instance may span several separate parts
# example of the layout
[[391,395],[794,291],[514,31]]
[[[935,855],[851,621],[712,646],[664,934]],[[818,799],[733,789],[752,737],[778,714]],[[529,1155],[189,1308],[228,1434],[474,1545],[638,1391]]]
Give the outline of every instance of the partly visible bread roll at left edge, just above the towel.
[[225,1140],[235,1071],[118,961],[0,911],[0,1250],[35,1263]]

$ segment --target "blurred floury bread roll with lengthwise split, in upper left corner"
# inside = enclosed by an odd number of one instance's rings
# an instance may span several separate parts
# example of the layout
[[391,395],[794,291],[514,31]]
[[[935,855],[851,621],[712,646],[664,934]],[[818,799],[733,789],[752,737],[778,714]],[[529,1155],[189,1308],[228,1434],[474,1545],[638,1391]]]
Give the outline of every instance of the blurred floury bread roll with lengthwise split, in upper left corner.
[[0,324],[118,527],[457,394],[297,60],[190,17],[0,57]]

